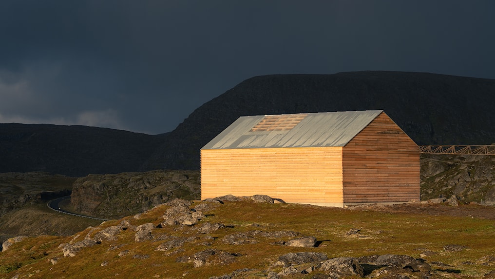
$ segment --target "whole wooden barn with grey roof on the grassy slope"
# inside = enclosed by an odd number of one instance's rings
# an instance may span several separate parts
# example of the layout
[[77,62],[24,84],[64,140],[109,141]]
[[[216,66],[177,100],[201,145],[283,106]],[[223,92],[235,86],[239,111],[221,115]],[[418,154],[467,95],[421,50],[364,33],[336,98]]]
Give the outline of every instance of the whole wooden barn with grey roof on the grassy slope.
[[419,200],[419,148],[383,111],[242,116],[201,149],[201,199]]

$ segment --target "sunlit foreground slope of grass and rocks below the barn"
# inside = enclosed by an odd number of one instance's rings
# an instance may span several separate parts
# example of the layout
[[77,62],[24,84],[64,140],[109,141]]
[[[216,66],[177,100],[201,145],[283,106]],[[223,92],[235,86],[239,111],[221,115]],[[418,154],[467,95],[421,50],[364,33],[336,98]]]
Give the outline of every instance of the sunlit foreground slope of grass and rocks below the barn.
[[[10,238],[1,278],[493,278],[494,208],[174,200],[68,237]],[[480,215],[482,214],[482,215]]]

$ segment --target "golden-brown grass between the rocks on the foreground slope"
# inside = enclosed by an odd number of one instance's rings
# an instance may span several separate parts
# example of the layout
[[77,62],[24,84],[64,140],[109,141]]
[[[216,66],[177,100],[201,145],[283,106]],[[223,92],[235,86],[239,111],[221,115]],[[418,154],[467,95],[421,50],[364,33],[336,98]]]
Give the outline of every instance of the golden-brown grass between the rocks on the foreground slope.
[[[167,206],[159,206],[142,214],[139,219],[126,219],[136,226],[149,222],[157,225],[163,220],[161,216],[166,209]],[[199,234],[194,227],[164,226],[154,229],[153,235],[197,236],[197,239],[182,247],[185,252],[167,255],[179,248],[167,252],[155,251],[158,245],[167,240],[136,243],[134,230],[128,229],[119,234],[115,242],[103,242],[84,248],[74,258],[64,258],[59,245],[69,242],[73,236],[40,236],[15,243],[9,250],[0,253],[0,278],[12,278],[16,274],[20,275],[19,278],[113,278],[116,274],[132,278],[208,278],[243,268],[256,269],[249,278],[260,278],[261,271],[267,270],[279,256],[302,251],[323,252],[329,258],[374,254],[401,254],[419,258],[423,251],[429,250],[433,254],[426,257],[428,262],[443,262],[453,266],[453,270],[460,272],[455,274],[458,278],[479,278],[493,270],[495,264],[483,261],[484,257],[486,259],[495,254],[495,245],[491,244],[495,224],[488,219],[249,202],[225,203],[207,214],[206,220],[201,222],[233,225],[211,233],[215,240],[210,246],[201,244],[205,235]],[[97,230],[118,223],[120,221],[110,221],[99,228],[88,228],[74,241],[84,239],[91,230],[91,235],[94,235]],[[253,223],[259,226],[252,226]],[[354,228],[359,229],[358,234],[347,234]],[[288,239],[271,238],[260,238],[256,244],[244,245],[229,245],[221,241],[228,234],[256,229],[292,230],[300,235],[315,236],[320,245],[316,248],[287,247],[272,243]],[[443,248],[447,244],[467,248],[449,252]],[[111,249],[118,245],[123,246]],[[194,268],[193,263],[176,262],[178,257],[191,256],[205,249],[224,250],[242,256],[236,257],[235,262],[229,265],[200,268]],[[123,250],[131,252],[122,257],[117,256]],[[135,259],[134,255],[149,257]],[[59,258],[57,264],[50,264],[49,259],[52,258]],[[102,267],[102,263],[107,265]]]

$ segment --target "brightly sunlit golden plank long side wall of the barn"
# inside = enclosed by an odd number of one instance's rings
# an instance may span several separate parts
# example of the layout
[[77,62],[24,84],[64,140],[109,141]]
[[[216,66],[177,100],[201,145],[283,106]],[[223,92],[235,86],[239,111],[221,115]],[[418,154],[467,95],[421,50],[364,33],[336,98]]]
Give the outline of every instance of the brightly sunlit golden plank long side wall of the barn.
[[342,204],[342,147],[201,150],[201,199],[228,194]]

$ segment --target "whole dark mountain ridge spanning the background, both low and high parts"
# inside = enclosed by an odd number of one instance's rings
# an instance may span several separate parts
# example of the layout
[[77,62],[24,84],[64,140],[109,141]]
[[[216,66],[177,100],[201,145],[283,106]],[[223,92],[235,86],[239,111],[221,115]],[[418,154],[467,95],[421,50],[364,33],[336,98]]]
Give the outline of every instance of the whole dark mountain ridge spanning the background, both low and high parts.
[[491,144],[493,108],[493,79],[390,71],[256,76],[160,135],[0,124],[0,172],[199,169],[201,147],[243,115],[384,110],[418,145]]

